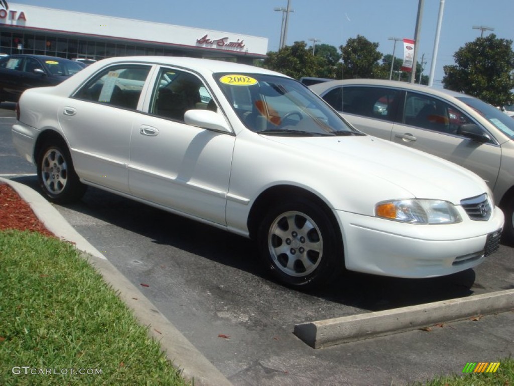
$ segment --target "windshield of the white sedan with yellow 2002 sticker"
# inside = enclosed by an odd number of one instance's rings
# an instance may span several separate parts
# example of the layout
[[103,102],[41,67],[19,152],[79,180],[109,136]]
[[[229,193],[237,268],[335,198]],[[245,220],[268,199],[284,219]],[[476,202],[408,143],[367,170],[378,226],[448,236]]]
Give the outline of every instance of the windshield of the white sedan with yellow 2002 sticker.
[[214,74],[245,126],[268,135],[362,135],[300,82],[262,74]]

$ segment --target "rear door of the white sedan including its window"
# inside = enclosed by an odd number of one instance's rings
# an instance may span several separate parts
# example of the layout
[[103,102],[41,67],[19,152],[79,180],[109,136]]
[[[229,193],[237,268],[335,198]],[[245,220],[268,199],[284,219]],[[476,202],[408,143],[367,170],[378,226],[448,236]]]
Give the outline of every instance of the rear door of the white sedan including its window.
[[[102,187],[128,192],[132,126],[150,65],[123,64],[103,69],[59,107],[59,122],[79,176]],[[138,80],[127,83],[128,74]]]

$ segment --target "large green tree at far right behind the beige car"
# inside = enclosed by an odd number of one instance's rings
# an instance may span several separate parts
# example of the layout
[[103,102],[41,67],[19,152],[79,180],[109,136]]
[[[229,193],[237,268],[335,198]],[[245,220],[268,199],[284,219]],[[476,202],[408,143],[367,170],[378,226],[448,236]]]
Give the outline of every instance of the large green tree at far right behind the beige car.
[[491,33],[466,43],[453,57],[455,64],[443,67],[445,89],[464,92],[493,106],[503,106],[512,101],[512,40],[498,39]]

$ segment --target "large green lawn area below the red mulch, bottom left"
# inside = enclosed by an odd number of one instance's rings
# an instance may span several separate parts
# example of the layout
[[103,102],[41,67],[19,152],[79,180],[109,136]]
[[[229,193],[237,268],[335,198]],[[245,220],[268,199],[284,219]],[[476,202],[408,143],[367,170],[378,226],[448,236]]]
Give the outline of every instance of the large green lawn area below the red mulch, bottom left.
[[187,384],[147,331],[70,244],[0,232],[0,384]]

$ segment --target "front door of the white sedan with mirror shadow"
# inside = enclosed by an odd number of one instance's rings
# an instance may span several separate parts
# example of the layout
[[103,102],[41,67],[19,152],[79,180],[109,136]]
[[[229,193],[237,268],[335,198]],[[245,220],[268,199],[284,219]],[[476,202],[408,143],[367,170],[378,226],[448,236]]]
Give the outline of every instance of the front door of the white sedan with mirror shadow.
[[226,224],[235,136],[184,122],[187,110],[218,110],[208,87],[195,74],[163,67],[149,99],[149,114],[133,121],[131,193],[182,214]]

